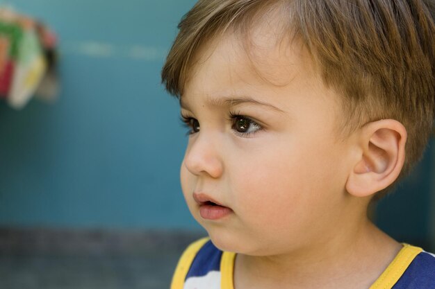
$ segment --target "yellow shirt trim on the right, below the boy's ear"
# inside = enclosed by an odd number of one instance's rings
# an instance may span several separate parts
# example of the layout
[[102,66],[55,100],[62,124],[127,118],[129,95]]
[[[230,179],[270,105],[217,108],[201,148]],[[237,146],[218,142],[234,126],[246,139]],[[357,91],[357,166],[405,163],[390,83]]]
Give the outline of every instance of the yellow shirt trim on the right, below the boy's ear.
[[381,276],[370,286],[370,289],[391,289],[399,281],[400,277],[407,270],[413,259],[422,252],[423,249],[404,244],[404,247],[395,256],[393,262]]

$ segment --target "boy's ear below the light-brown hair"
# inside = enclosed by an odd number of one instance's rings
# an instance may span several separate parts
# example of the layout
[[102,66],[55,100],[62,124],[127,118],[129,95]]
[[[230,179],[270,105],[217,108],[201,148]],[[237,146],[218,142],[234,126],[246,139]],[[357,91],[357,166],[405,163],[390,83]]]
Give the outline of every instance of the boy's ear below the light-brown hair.
[[383,119],[367,123],[359,132],[362,154],[347,178],[346,190],[356,197],[368,197],[385,189],[400,175],[407,130],[398,121]]

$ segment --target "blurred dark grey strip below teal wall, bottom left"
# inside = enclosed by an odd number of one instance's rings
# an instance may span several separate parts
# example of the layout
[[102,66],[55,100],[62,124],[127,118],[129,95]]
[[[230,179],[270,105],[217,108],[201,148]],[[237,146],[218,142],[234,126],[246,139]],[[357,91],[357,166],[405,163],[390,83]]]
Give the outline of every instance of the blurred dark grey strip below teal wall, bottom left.
[[167,289],[198,236],[0,228],[0,288]]

